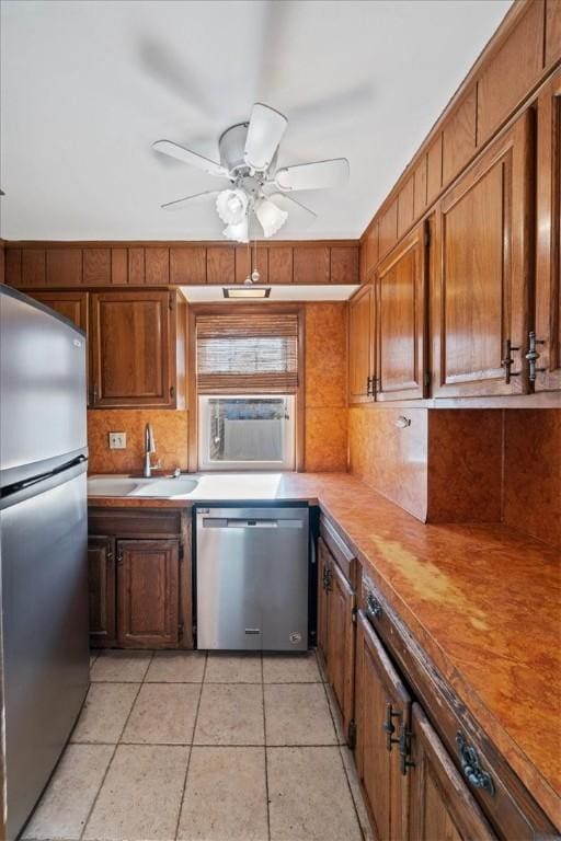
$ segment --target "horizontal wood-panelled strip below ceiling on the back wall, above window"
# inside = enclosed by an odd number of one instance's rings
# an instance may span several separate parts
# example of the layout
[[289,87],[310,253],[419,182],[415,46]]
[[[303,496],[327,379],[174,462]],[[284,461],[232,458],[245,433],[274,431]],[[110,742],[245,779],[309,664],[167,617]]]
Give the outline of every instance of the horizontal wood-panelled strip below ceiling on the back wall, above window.
[[[358,284],[355,241],[259,243],[250,260],[229,243],[5,243],[5,283],[18,288],[242,284]],[[248,272],[251,261],[251,268]]]

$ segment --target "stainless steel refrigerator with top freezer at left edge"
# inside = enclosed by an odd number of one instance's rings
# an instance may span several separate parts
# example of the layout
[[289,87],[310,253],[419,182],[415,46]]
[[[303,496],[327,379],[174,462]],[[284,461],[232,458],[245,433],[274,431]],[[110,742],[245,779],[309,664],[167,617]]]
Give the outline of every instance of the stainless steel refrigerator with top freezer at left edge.
[[9,841],[88,690],[85,389],[84,334],[0,286],[0,799]]

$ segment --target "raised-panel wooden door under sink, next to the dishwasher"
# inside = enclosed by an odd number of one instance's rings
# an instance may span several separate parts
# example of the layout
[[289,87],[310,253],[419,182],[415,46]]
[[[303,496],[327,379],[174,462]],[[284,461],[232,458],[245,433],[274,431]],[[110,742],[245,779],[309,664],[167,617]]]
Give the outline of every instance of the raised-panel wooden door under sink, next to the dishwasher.
[[178,540],[118,541],[117,636],[124,648],[178,644]]

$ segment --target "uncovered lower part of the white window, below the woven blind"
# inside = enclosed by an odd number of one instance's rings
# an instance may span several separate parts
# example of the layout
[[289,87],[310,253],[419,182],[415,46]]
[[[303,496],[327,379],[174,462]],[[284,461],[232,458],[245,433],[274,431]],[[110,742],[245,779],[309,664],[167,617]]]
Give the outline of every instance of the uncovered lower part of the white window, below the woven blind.
[[294,470],[294,395],[198,400],[201,470]]

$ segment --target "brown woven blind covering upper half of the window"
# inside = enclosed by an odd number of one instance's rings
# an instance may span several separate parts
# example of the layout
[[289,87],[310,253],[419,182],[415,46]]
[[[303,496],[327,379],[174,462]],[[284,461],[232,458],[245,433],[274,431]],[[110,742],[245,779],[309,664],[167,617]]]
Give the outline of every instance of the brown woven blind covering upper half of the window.
[[294,393],[298,387],[298,315],[197,315],[201,394]]

